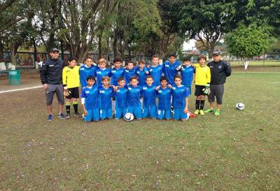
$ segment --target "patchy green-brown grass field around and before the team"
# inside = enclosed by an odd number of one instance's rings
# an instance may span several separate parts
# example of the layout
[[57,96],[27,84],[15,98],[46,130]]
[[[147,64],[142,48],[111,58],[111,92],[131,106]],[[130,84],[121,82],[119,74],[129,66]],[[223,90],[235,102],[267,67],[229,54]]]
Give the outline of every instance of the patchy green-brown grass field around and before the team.
[[0,94],[0,190],[280,190],[279,87],[232,73],[221,116],[187,122],[47,122],[43,90]]

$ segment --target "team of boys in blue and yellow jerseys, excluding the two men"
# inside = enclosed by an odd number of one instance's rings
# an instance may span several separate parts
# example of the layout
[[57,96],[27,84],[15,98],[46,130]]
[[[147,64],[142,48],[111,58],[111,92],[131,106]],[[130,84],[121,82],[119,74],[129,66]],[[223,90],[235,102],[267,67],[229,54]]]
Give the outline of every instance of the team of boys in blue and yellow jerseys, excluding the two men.
[[[183,64],[176,60],[176,55],[169,55],[164,64],[160,57],[153,56],[152,65],[144,61],[139,66],[127,62],[121,67],[122,60],[113,60],[113,69],[106,67],[106,60],[99,59],[98,66],[91,57],[86,57],[84,64],[77,65],[76,57],[71,57],[68,66],[62,71],[64,95],[66,96],[66,119],[70,118],[71,102],[78,113],[79,91],[81,85],[81,104],[85,122],[113,118],[122,118],[125,113],[132,113],[134,118],[158,118],[188,120],[188,97],[195,73],[195,114],[204,115],[204,96],[209,94],[211,72],[206,57],[198,57],[199,64],[190,64],[185,57]],[[178,72],[181,75],[178,75]],[[112,99],[116,104],[112,104]],[[114,111],[112,105],[115,106]]]

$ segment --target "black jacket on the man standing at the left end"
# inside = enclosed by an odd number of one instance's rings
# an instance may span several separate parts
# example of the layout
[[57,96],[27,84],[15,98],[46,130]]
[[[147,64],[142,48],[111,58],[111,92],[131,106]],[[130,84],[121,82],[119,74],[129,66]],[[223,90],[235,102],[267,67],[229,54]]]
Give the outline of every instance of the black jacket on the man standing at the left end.
[[46,59],[40,69],[41,83],[62,84],[63,67],[62,59]]

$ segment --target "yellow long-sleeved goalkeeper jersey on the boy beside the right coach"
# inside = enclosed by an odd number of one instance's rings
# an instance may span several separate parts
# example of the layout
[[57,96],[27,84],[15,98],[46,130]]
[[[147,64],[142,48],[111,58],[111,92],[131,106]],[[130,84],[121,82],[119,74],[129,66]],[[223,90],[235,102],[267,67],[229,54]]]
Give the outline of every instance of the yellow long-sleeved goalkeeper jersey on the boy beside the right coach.
[[193,64],[195,67],[195,85],[207,85],[211,82],[211,72],[209,66],[200,66]]

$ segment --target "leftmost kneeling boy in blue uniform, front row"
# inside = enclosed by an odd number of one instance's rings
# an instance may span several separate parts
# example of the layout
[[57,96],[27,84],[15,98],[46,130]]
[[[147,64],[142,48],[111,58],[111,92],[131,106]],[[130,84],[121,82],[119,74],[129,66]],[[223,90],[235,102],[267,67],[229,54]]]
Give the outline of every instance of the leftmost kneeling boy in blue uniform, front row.
[[87,86],[83,87],[80,97],[83,107],[83,120],[85,122],[99,121],[99,94],[93,76],[87,77]]

